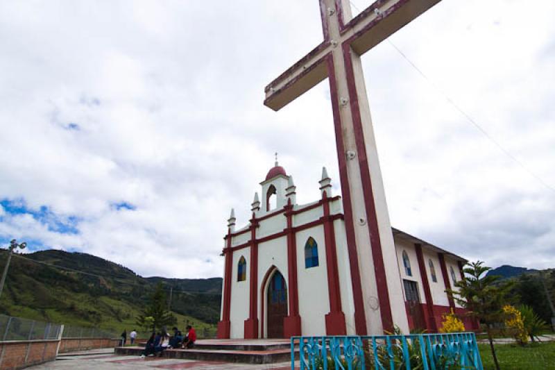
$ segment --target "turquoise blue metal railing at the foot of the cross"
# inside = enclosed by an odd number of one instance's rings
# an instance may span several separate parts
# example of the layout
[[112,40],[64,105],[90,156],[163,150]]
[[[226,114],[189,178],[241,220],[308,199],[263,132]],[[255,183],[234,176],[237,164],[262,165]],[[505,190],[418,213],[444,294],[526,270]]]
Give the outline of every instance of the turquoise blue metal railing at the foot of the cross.
[[483,370],[474,333],[292,337],[291,370]]

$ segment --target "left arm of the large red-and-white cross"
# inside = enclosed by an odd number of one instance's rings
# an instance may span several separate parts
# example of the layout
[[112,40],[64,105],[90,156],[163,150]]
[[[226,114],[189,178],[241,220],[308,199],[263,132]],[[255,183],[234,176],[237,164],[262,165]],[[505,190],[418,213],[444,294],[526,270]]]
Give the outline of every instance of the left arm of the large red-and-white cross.
[[330,42],[322,42],[266,86],[264,105],[280,110],[323,81],[327,77],[325,57],[329,47]]

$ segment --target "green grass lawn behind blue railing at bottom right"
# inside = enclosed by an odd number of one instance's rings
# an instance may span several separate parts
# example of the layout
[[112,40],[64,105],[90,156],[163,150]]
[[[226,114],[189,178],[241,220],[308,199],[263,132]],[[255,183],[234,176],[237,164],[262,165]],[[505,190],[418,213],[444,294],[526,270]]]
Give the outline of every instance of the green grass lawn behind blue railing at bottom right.
[[[484,369],[495,369],[489,344],[478,346]],[[555,342],[530,344],[526,347],[496,344],[495,353],[502,370],[555,369]]]

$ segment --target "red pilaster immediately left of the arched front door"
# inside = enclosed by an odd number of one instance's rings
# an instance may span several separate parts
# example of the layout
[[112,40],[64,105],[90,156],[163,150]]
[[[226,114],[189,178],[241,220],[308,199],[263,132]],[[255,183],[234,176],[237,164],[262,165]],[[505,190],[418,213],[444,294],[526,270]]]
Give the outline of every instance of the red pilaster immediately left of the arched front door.
[[256,229],[258,221],[253,212],[250,220],[250,276],[249,276],[249,308],[248,319],[245,320],[245,339],[258,338],[258,312],[257,312],[257,282],[258,282],[258,243],[256,241]]

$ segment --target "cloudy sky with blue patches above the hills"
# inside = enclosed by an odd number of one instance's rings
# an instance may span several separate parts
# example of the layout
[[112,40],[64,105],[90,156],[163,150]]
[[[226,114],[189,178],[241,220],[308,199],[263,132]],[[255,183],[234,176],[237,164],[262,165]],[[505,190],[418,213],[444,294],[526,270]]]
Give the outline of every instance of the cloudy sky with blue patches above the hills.
[[[555,267],[555,3],[532,3],[443,0],[363,58],[393,226],[493,267]],[[321,39],[316,0],[1,0],[1,244],[221,276],[275,151],[299,203],[322,166],[340,192],[327,81],[262,104]]]

